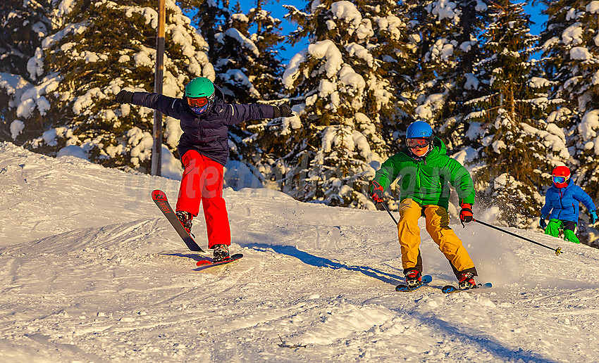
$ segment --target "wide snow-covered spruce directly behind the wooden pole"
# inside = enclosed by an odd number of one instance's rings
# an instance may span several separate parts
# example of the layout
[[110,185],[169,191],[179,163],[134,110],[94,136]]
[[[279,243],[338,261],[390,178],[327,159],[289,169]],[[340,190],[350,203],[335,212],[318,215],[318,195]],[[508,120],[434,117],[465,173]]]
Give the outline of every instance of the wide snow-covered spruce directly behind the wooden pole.
[[[166,4],[163,92],[180,96],[190,78],[214,79],[214,69],[190,19],[172,0]],[[154,5],[146,0],[135,6],[106,0],[59,4],[61,11],[52,18],[54,32],[27,64],[35,82],[23,87],[17,117],[25,129],[28,120],[39,116],[46,123],[25,146],[49,155],[81,146],[94,162],[149,170],[153,110],[121,106],[114,96],[123,88],[154,90]],[[180,133],[178,120],[166,117],[164,137],[173,151]]]

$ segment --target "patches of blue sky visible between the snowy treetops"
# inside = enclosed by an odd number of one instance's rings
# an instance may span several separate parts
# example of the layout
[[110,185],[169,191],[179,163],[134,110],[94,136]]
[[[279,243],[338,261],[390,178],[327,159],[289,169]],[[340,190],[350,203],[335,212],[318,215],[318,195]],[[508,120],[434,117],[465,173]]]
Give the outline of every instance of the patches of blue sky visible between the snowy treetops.
[[[232,1],[231,4],[235,4],[235,3]],[[256,3],[254,0],[240,0],[240,5],[242,8],[242,11],[247,12],[250,8],[254,7],[255,4]],[[281,20],[281,22],[282,22],[281,25],[283,27],[283,34],[289,34],[293,30],[297,29],[297,25],[295,25],[295,23],[290,23],[287,20],[285,20],[285,18],[283,18],[283,16],[287,13],[287,9],[283,8],[283,4],[292,4],[296,8],[301,10],[306,6],[307,1],[270,0],[270,1],[268,1],[268,3],[263,5],[263,8],[265,10],[271,11],[271,15],[273,16],[273,18],[278,18]],[[545,15],[541,15],[541,6],[526,5],[526,6],[524,6],[524,10],[526,11],[526,13],[529,13],[529,15],[531,15],[531,20],[535,23],[531,27],[531,34],[538,35],[539,32],[541,32],[541,30],[543,28],[543,23],[545,23],[545,20],[547,20]],[[295,44],[295,46],[290,46],[290,44],[285,44],[284,46],[285,46],[285,50],[281,51],[281,58],[283,59],[284,63],[287,63],[288,60],[290,60],[290,58],[292,56],[294,56],[296,53],[302,51],[302,49],[304,49],[307,46],[307,42],[300,42],[300,43]]]

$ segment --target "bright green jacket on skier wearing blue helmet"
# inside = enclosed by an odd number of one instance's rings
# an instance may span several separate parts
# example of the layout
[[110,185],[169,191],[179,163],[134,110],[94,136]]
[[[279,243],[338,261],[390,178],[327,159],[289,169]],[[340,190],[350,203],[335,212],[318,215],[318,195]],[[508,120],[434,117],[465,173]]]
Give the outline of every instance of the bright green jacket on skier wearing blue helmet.
[[[457,160],[447,156],[443,141],[436,137],[424,160],[416,160],[406,148],[388,158],[376,172],[374,180],[387,189],[397,177],[400,200],[412,198],[419,205],[439,205],[447,209],[450,187],[455,187],[459,203],[474,203],[474,182],[470,173]],[[372,186],[371,186],[372,191]]]

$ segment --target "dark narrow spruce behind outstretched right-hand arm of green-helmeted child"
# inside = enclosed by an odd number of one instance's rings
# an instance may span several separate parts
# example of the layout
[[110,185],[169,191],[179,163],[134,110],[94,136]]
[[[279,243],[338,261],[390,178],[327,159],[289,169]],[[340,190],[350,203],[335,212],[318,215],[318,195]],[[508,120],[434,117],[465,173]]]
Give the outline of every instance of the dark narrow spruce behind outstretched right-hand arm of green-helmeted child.
[[[262,8],[264,2],[256,0],[256,6],[247,14],[234,11],[226,30],[217,34],[217,45],[222,51],[219,51],[221,59],[216,66],[216,79],[228,89],[231,99],[236,102],[279,103],[282,97],[283,65],[277,55],[284,37],[280,20]],[[255,120],[230,128],[230,140],[235,144],[231,157],[244,160],[250,170],[254,170],[255,163],[261,166],[260,155],[263,152],[259,140],[272,136],[271,133],[265,134],[267,121]],[[263,169],[260,167],[260,170]],[[254,174],[264,179],[261,172]]]

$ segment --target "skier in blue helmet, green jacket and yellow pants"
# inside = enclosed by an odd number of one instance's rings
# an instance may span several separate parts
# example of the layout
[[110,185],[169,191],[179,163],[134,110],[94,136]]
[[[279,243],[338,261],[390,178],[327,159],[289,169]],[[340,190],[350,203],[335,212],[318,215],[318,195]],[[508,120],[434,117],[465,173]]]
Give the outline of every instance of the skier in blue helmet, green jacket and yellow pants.
[[426,122],[412,122],[407,128],[405,141],[407,147],[386,160],[376,172],[370,192],[375,202],[382,202],[385,189],[397,177],[401,177],[397,234],[406,283],[410,287],[422,283],[418,219],[424,216],[426,231],[449,260],[459,281],[459,288],[474,288],[474,276],[478,276],[474,262],[462,246],[462,241],[449,227],[450,216],[447,213],[449,182],[457,190],[462,207],[459,219],[462,222],[472,221],[474,182],[465,167],[446,155],[445,144],[434,135],[433,129]]

